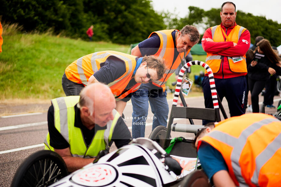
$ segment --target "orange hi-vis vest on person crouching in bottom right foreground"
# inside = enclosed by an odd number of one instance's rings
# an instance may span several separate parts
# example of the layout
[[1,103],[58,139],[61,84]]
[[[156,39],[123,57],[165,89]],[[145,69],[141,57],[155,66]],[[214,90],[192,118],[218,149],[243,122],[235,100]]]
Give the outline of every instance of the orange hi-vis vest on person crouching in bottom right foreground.
[[219,122],[202,141],[218,150],[236,186],[280,186],[281,122],[252,113]]

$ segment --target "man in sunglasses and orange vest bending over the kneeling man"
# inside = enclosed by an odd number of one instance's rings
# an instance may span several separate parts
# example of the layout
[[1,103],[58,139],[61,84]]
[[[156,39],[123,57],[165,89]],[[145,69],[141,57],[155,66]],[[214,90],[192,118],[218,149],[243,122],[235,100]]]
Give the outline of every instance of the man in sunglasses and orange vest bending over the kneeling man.
[[165,72],[162,59],[154,56],[137,57],[117,51],[100,51],[72,62],[62,77],[66,96],[79,95],[90,83],[108,85],[115,96],[116,110],[122,115],[130,94],[141,83],[161,79]]

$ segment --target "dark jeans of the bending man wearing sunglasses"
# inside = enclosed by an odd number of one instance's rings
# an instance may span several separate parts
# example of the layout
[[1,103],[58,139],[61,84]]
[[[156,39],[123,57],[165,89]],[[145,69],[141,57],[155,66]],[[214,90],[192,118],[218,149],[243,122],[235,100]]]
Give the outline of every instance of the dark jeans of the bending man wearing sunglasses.
[[81,90],[85,87],[83,84],[78,84],[68,80],[65,73],[62,76],[61,85],[66,96],[79,95]]

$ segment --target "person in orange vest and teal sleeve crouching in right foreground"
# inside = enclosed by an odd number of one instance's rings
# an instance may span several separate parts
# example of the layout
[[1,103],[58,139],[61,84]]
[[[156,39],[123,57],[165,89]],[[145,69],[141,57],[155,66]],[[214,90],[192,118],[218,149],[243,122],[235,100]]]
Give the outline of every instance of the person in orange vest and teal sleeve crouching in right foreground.
[[262,113],[207,124],[194,143],[206,175],[220,186],[281,184],[281,122]]

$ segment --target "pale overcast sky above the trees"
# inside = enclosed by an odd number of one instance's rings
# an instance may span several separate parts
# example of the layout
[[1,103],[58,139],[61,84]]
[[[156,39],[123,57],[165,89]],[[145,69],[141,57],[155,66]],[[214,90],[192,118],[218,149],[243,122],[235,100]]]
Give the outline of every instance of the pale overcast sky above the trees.
[[[210,10],[211,8],[221,8],[224,2],[226,1],[152,0],[151,4],[155,11],[169,11],[178,13],[179,17],[185,17],[188,13],[188,6],[196,6],[204,10]],[[240,10],[246,13],[252,13],[254,16],[265,16],[266,19],[272,19],[273,21],[281,23],[280,0],[233,0],[232,2],[236,5],[236,11]]]

